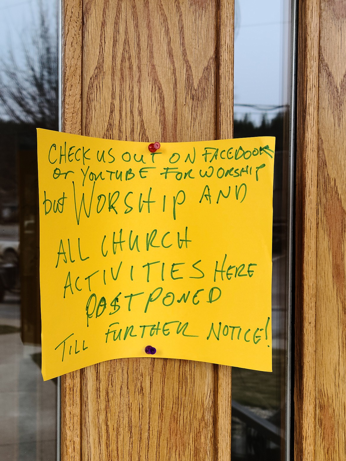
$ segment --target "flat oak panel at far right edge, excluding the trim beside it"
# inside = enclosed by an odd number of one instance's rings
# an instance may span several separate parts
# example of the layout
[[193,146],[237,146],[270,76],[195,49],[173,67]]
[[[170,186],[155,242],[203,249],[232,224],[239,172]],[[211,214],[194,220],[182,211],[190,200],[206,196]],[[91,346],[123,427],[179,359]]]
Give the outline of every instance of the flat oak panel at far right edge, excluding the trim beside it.
[[346,457],[346,5],[321,0],[316,461]]

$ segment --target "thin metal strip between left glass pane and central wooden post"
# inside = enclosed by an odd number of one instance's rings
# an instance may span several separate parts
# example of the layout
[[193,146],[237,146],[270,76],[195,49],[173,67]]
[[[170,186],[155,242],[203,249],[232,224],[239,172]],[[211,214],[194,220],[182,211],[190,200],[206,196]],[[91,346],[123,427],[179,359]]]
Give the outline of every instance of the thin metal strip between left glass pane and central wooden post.
[[[58,130],[62,131],[62,3],[63,0],[56,0],[58,16]],[[58,376],[56,386],[56,461],[61,459],[61,377]]]

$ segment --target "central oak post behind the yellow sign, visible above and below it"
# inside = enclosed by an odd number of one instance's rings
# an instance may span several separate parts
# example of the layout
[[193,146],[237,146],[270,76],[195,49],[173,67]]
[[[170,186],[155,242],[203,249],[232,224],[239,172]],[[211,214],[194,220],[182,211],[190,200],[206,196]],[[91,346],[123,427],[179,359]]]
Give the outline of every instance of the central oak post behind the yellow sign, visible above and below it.
[[[232,0],[65,0],[63,130],[233,134]],[[62,378],[61,459],[229,460],[231,368],[121,359]]]

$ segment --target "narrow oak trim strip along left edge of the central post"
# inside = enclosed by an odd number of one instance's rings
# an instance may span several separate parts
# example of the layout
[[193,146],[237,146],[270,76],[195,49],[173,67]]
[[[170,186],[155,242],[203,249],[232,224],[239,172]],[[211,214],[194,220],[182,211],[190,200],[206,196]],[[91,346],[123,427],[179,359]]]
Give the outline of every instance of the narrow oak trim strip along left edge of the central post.
[[[81,134],[82,0],[63,5],[62,130]],[[81,372],[61,377],[61,460],[81,461]]]

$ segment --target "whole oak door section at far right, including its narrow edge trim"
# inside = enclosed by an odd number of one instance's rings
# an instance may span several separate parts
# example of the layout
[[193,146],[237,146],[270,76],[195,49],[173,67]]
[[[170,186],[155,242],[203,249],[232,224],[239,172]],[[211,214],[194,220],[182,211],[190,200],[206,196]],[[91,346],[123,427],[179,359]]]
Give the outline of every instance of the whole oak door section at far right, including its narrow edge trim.
[[295,459],[346,454],[346,6],[300,2]]

